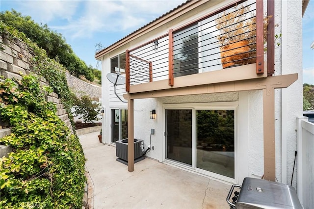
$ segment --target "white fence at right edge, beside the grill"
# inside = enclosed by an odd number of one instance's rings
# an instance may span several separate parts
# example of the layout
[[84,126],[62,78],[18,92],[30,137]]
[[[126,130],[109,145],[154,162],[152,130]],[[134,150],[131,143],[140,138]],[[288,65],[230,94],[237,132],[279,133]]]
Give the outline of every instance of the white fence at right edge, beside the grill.
[[298,197],[304,209],[314,209],[314,123],[298,117]]

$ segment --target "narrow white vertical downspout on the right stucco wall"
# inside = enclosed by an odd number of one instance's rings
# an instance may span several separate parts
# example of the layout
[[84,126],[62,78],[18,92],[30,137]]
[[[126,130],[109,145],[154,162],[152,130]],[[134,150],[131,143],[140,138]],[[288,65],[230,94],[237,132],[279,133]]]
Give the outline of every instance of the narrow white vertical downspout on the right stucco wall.
[[[287,18],[288,4],[287,1],[281,1],[282,6],[282,27],[281,33],[281,75],[287,69]],[[281,183],[287,184],[287,89],[281,89]]]

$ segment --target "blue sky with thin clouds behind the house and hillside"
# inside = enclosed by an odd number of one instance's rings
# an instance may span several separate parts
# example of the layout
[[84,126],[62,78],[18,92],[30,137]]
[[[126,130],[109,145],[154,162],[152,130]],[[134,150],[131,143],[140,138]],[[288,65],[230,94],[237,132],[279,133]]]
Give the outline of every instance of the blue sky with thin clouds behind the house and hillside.
[[[155,20],[185,0],[1,0],[0,10],[15,9],[62,33],[87,65],[96,67],[95,45],[107,47]],[[314,0],[303,17],[303,82],[314,84]]]

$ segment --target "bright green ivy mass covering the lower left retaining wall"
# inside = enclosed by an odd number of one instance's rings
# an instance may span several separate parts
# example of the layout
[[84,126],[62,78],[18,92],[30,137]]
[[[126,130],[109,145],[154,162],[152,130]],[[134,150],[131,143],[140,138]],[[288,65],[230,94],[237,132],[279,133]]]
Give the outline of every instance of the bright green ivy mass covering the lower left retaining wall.
[[86,180],[81,145],[38,83],[34,75],[0,82],[0,117],[12,130],[0,139],[12,146],[0,158],[0,208],[81,209]]

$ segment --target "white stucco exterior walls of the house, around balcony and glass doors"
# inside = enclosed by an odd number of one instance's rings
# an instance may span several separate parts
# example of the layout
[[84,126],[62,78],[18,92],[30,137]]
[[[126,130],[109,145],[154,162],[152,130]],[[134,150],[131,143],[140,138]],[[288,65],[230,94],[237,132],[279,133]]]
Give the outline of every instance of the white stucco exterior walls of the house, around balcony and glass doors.
[[[140,39],[133,40],[113,52],[103,56],[103,106],[105,117],[103,118],[103,130],[105,130],[105,142],[110,143],[110,108],[124,107],[122,103],[112,95],[112,84],[106,79],[110,72],[110,58],[117,54],[132,49],[153,38],[165,34],[169,28],[176,28],[190,22],[218,7],[219,1],[206,3],[215,4],[208,10],[205,7],[196,9],[193,14],[185,14],[175,21],[158,27],[154,33],[146,34]],[[283,11],[283,12],[282,12]],[[296,117],[302,116],[302,1],[288,0],[275,1],[275,23],[279,26],[275,34],[282,33],[281,46],[275,49],[275,75],[298,73],[299,79],[287,89],[275,90],[275,142],[276,142],[276,178],[279,182],[290,183],[296,150]],[[124,86],[119,87],[119,94],[123,94]],[[110,92],[111,90],[111,92]],[[241,95],[241,96],[239,96]],[[198,103],[198,102],[232,102],[237,101],[240,109],[239,140],[243,144],[240,148],[240,161],[244,163],[240,172],[239,183],[244,177],[259,178],[263,175],[263,107],[262,91],[233,92],[212,95],[180,96],[171,98],[134,100],[134,137],[143,139],[145,149],[149,144],[151,129],[155,129],[152,135],[152,146],[155,147],[147,153],[159,161],[164,159],[163,149],[164,116],[163,104]],[[149,119],[149,112],[156,109],[157,118]],[[243,121],[244,120],[244,121]],[[244,131],[244,132],[241,132]],[[104,134],[104,133],[103,133]],[[296,170],[294,171],[296,174]],[[293,180],[296,187],[296,176]]]

